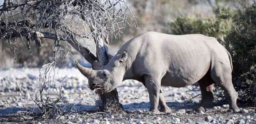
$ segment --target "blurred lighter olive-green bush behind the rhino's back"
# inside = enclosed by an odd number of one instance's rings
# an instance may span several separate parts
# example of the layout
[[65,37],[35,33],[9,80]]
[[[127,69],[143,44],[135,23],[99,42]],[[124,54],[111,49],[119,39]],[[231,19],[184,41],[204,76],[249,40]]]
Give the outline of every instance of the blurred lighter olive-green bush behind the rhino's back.
[[207,19],[180,16],[169,24],[171,32],[167,33],[175,35],[203,34],[215,37],[220,43],[226,44],[226,34],[234,24],[233,15],[230,8],[219,7],[215,10],[215,16]]

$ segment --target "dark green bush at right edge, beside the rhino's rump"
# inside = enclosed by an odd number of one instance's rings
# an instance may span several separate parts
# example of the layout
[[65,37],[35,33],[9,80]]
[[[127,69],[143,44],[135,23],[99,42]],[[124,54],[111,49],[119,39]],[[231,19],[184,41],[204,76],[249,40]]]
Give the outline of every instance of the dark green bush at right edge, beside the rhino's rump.
[[256,105],[256,4],[245,8],[227,37],[233,52],[233,79],[240,101]]

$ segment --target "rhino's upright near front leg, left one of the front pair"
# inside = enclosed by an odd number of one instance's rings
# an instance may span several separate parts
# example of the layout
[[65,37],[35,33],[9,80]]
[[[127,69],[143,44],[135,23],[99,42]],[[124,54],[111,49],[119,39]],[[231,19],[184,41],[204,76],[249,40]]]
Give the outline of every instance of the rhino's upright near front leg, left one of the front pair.
[[154,77],[146,77],[145,84],[149,94],[150,111],[159,112],[157,108],[159,104],[160,82]]

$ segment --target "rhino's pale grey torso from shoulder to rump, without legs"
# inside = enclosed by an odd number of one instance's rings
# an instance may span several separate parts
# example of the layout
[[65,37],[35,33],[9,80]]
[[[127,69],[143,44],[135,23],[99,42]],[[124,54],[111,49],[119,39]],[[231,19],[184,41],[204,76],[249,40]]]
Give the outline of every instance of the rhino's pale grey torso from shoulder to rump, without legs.
[[213,56],[225,52],[216,39],[205,35],[158,32],[139,35],[125,49],[132,53],[134,73],[163,77],[162,85],[175,87],[200,80],[209,70]]

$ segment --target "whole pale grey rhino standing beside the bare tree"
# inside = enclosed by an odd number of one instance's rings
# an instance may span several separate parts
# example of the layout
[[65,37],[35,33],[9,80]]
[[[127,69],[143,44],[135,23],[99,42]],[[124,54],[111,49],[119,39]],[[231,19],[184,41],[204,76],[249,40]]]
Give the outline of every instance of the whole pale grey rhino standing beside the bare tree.
[[77,65],[97,93],[108,93],[126,79],[142,82],[148,90],[153,112],[159,111],[158,105],[163,112],[171,111],[160,91],[161,85],[185,87],[196,82],[202,92],[198,110],[205,111],[212,104],[216,83],[225,90],[230,109],[240,111],[232,84],[230,54],[213,37],[146,32],[125,43],[107,65],[95,62],[98,70]]

